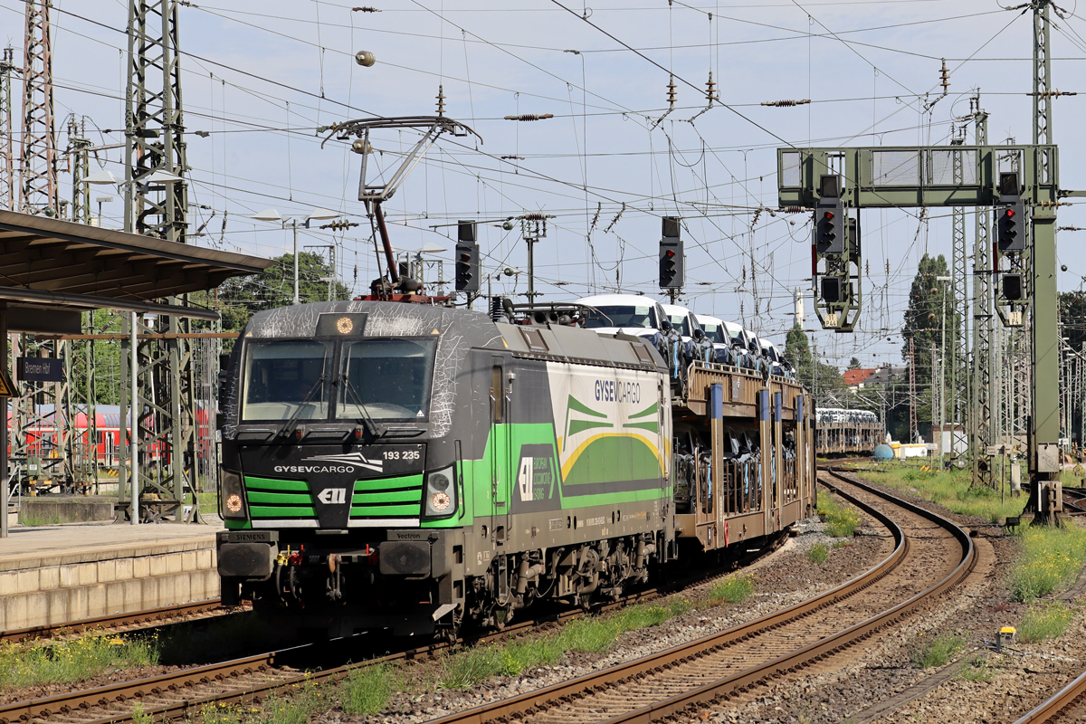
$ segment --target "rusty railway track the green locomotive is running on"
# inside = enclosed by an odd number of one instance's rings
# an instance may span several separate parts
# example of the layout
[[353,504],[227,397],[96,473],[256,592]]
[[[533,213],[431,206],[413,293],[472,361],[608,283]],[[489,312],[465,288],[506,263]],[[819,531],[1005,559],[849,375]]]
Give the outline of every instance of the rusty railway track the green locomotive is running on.
[[[735,564],[748,564],[768,555],[780,546],[784,537],[785,535],[782,534],[763,550],[750,554]],[[667,586],[632,593],[615,604],[603,607],[602,610],[649,601],[685,586],[711,580],[723,572],[725,571],[703,571]],[[596,609],[596,611],[598,610],[601,609]],[[512,637],[543,624],[561,624],[581,615],[584,615],[583,611],[569,610],[534,620],[525,620],[506,626],[500,632],[476,636],[467,640],[460,639],[457,644],[487,643]],[[157,676],[123,681],[91,689],[0,704],[0,724],[14,724],[16,722],[124,724],[132,721],[132,707],[136,702],[142,706],[144,715],[151,715],[156,721],[187,719],[199,714],[202,708],[207,704],[258,701],[276,690],[285,689],[303,681],[337,682],[359,666],[418,659],[447,649],[453,644],[435,642],[361,663],[317,672],[302,673],[289,665],[283,665],[285,660],[303,655],[312,646],[315,645],[269,651]]]

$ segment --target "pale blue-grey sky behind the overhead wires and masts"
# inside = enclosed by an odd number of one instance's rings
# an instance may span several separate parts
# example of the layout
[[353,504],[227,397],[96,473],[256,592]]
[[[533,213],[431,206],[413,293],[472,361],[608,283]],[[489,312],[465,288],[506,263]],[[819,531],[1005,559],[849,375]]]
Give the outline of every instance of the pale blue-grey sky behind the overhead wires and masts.
[[[864,308],[855,334],[819,331],[810,300],[810,216],[780,211],[776,150],[790,145],[946,144],[972,125],[970,98],[989,114],[988,138],[1032,142],[1032,14],[995,0],[679,2],[673,0],[197,0],[179,9],[190,231],[199,245],[277,256],[291,251],[267,208],[304,218],[343,215],[343,232],[303,229],[301,244],[334,245],[338,277],[365,293],[378,276],[370,224],[356,201],[361,156],[332,124],[445,115],[476,137],[442,137],[384,206],[395,247],[425,244],[453,272],[455,223],[475,219],[495,294],[525,301],[527,213],[553,215],[535,244],[540,301],[621,291],[661,299],[660,217],[684,219],[695,312],[743,322],[783,343],[804,291],[805,328],[825,361],[900,364],[908,291],[923,254],[951,254],[950,209],[862,212]],[[1057,5],[1051,87],[1061,187],[1086,189],[1075,134],[1086,102],[1086,5]],[[368,12],[367,9],[378,12]],[[54,0],[58,147],[67,119],[86,120],[96,144],[124,140],[127,2]],[[24,4],[0,0],[0,41],[22,58]],[[358,51],[376,63],[355,63]],[[944,93],[944,60],[950,86]],[[709,73],[719,92],[706,100]],[[668,103],[674,78],[675,102]],[[18,93],[17,84],[15,93]],[[810,100],[795,106],[762,105]],[[17,101],[16,101],[17,103]],[[552,114],[534,122],[507,115]],[[194,131],[201,131],[198,136]],[[204,136],[205,134],[206,136]],[[371,139],[379,173],[394,173],[417,140]],[[16,143],[18,131],[16,129]],[[62,196],[71,198],[62,156]],[[123,178],[123,149],[91,170]],[[372,173],[372,170],[371,170]],[[103,225],[118,228],[116,189],[98,187]],[[97,204],[94,204],[97,208]],[[315,226],[315,225],[314,225]],[[1059,226],[1086,227],[1079,204]],[[1086,253],[1058,236],[1062,291],[1081,289]],[[972,249],[973,219],[967,218]],[[327,254],[326,250],[316,250]],[[508,270],[509,274],[505,274]],[[510,276],[512,275],[512,276]],[[434,281],[437,269],[428,271]]]

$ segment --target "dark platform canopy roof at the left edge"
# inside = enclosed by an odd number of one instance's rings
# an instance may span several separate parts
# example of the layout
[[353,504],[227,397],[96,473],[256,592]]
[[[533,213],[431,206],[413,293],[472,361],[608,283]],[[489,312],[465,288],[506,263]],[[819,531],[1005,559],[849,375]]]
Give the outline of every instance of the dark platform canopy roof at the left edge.
[[260,274],[272,264],[256,256],[0,209],[0,302],[8,305],[11,331],[78,333],[79,313],[100,308],[217,319],[211,309],[155,300],[215,289],[231,277]]

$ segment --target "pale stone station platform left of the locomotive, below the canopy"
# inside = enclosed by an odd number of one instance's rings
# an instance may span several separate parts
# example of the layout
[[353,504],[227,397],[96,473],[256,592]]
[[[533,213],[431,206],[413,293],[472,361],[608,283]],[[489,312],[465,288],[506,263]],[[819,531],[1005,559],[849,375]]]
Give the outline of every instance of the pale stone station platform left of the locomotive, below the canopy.
[[0,631],[217,598],[220,530],[220,523],[12,526],[0,538]]

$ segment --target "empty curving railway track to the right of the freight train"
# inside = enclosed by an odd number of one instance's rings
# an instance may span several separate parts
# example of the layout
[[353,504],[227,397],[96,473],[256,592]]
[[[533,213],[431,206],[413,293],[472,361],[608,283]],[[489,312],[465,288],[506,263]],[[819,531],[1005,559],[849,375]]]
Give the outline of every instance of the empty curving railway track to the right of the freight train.
[[[849,651],[969,574],[975,549],[962,529],[910,503],[838,478],[833,486],[885,525],[896,542],[894,552],[867,573],[719,634],[452,714],[434,724],[514,720],[647,724],[690,715]],[[899,509],[895,517],[900,524],[880,509],[887,504]]]

